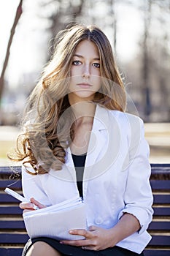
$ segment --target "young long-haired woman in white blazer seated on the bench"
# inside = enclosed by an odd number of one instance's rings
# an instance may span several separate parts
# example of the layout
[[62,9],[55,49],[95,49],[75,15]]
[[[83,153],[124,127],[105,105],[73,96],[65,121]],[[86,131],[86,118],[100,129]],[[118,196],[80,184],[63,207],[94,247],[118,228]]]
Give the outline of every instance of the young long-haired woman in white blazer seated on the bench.
[[81,196],[88,230],[69,231],[80,240],[34,238],[23,255],[143,255],[152,220],[149,148],[142,120],[125,105],[105,34],[82,25],[61,31],[18,138],[23,194],[31,198],[20,208]]

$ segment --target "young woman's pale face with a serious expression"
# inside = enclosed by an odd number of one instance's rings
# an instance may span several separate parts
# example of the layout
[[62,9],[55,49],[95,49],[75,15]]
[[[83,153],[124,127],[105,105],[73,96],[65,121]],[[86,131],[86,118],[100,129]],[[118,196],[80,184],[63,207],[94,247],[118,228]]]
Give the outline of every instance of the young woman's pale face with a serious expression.
[[101,87],[100,64],[97,46],[88,39],[81,41],[72,59],[69,102],[93,100]]

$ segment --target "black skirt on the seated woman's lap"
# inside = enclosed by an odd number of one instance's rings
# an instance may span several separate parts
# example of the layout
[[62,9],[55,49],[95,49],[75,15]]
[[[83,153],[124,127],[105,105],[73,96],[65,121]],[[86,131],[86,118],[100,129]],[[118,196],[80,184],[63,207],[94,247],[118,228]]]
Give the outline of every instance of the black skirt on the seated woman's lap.
[[[63,256],[66,255],[72,255],[72,256],[139,256],[136,252],[131,252],[128,249],[123,249],[119,246],[114,246],[112,248],[107,248],[101,251],[92,251],[92,250],[85,250],[81,247],[77,246],[70,246],[66,244],[60,244],[60,241],[55,240],[53,238],[33,238],[29,239],[26,246],[23,249],[22,256],[26,256],[26,253],[28,252],[28,249],[31,248],[31,246],[36,243],[36,241],[44,241],[45,243],[52,246],[56,251],[61,252]],[[143,252],[140,254],[140,256],[143,256]]]

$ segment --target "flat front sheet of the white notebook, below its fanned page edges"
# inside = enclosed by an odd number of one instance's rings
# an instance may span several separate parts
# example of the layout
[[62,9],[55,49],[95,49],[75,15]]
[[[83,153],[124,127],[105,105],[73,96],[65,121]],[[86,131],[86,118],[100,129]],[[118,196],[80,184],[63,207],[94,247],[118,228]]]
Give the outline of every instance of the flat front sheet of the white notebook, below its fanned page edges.
[[62,239],[84,239],[83,236],[69,234],[69,230],[87,229],[85,204],[81,203],[71,209],[63,211],[39,213],[34,216],[25,216],[24,222],[30,238],[50,237]]

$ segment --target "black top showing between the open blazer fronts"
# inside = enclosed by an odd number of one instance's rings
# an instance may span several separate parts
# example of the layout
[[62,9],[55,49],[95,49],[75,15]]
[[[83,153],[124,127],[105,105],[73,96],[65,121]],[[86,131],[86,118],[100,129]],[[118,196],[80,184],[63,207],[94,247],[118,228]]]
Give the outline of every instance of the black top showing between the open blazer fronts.
[[83,179],[83,173],[84,173],[84,169],[85,169],[86,154],[80,154],[80,155],[72,154],[72,159],[73,159],[74,167],[76,170],[77,188],[79,190],[80,197],[83,197],[83,195],[82,195],[82,179]]

